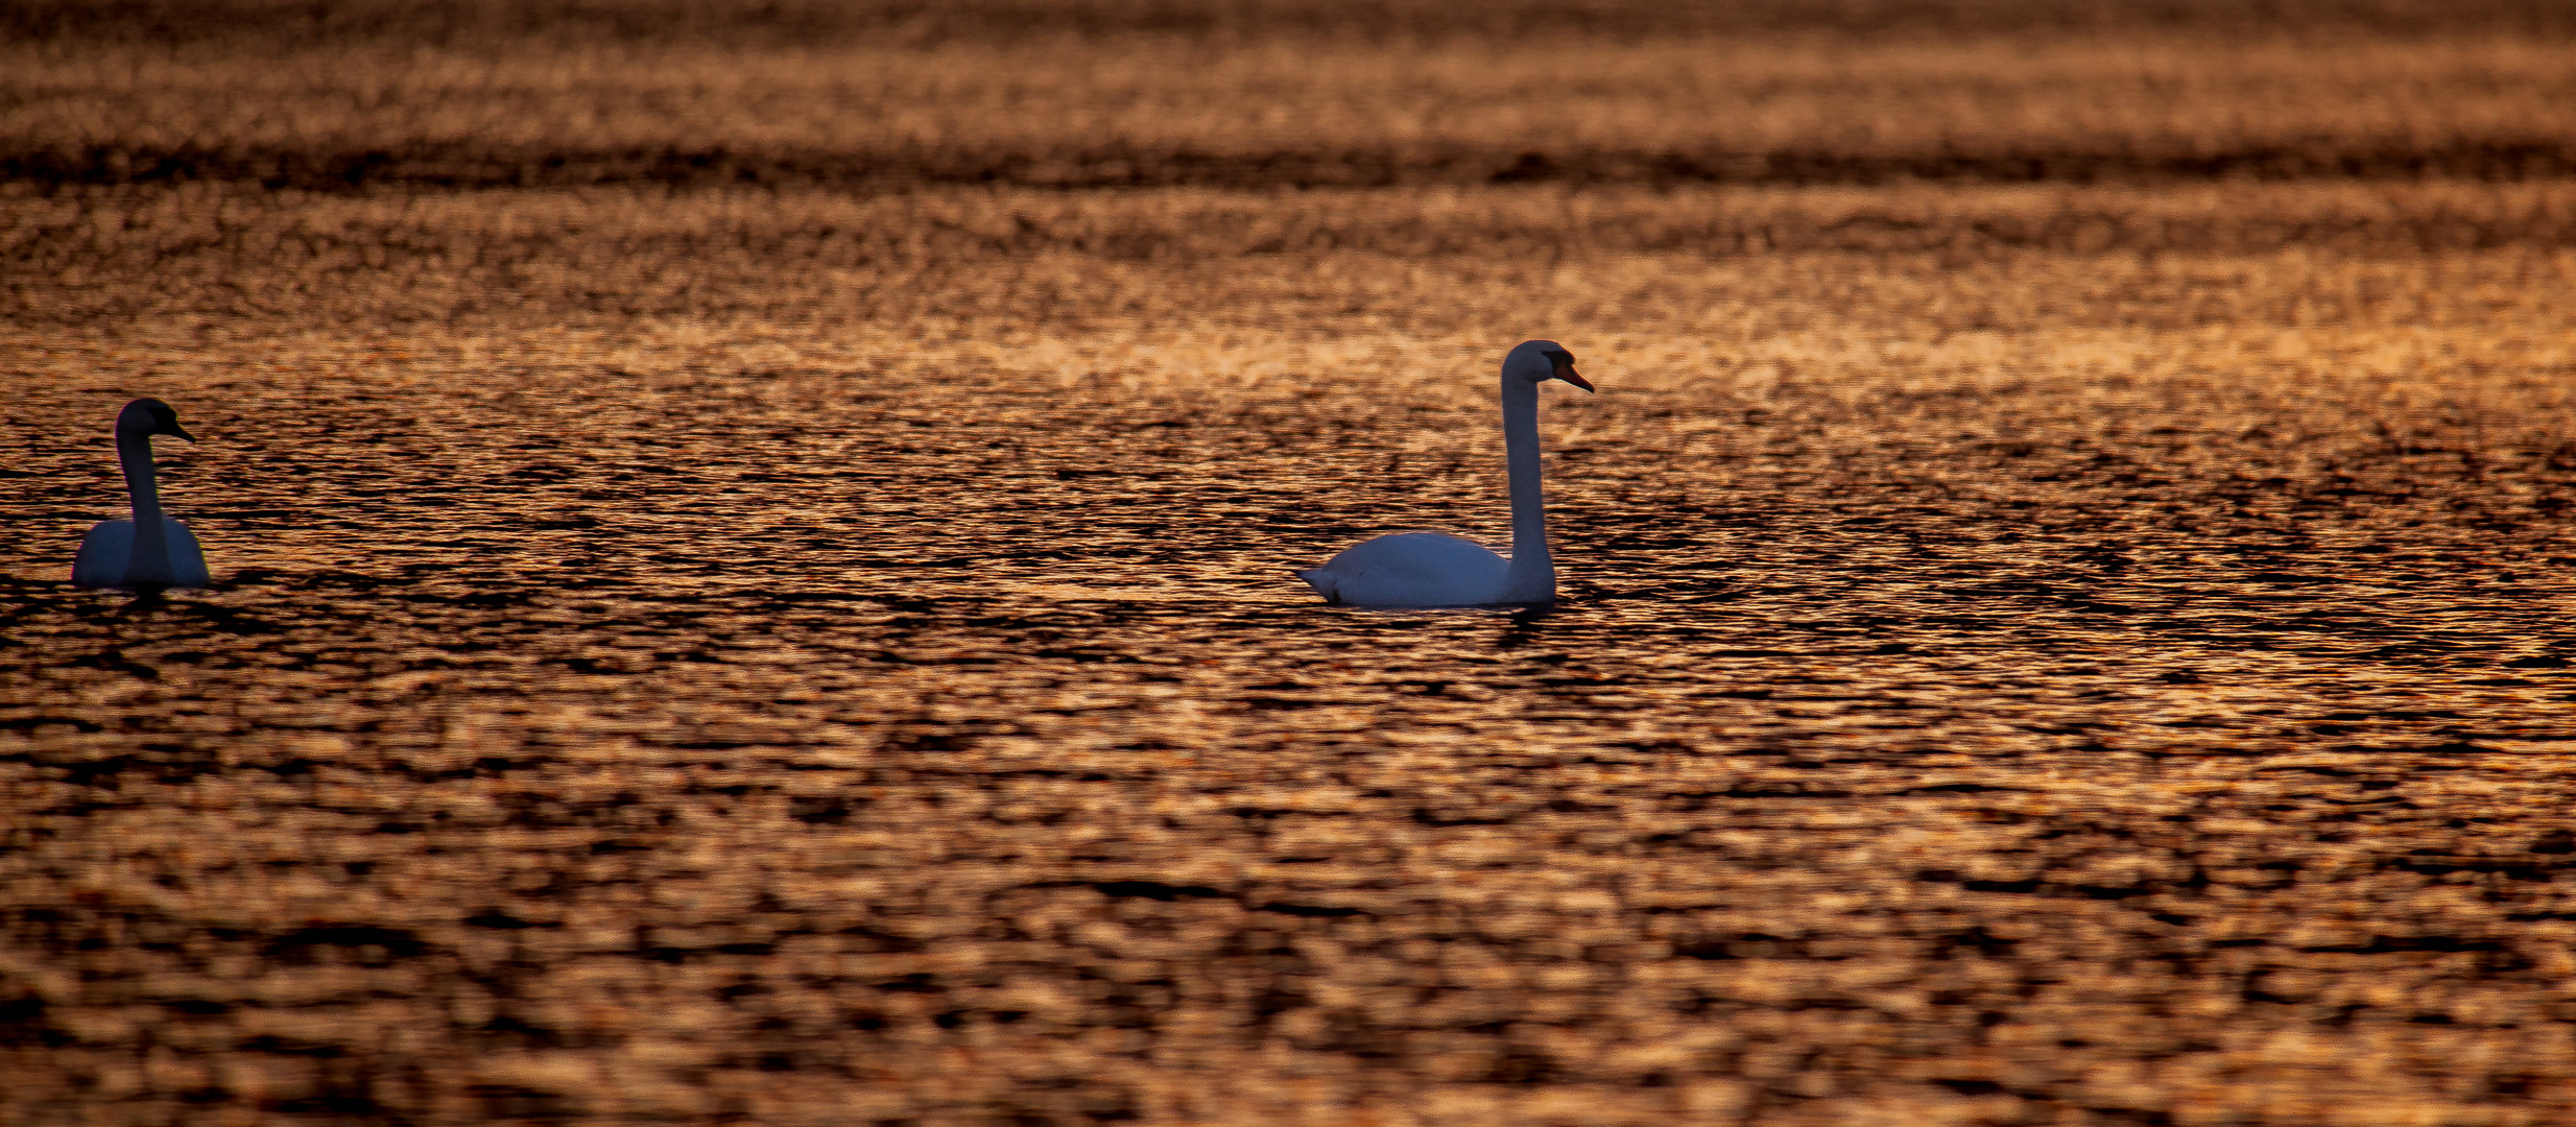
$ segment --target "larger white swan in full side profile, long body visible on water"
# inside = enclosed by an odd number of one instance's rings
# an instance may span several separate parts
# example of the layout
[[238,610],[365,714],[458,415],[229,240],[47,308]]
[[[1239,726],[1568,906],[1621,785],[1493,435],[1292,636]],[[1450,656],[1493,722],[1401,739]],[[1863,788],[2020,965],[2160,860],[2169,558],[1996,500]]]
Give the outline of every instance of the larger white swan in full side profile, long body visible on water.
[[1352,607],[1486,607],[1556,602],[1548,512],[1538,497],[1538,386],[1566,381],[1592,391],[1574,353],[1553,340],[1522,340],[1502,358],[1502,461],[1512,473],[1512,558],[1448,533],[1391,533],[1342,548],[1298,571],[1324,602]]

